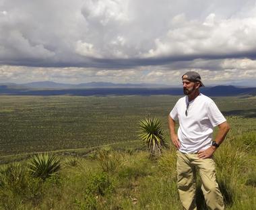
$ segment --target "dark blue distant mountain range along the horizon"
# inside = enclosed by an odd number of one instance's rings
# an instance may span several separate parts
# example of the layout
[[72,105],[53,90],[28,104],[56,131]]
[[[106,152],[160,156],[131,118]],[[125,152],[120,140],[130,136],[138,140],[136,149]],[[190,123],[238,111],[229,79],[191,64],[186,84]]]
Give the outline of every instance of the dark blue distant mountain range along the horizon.
[[[200,91],[209,96],[256,95],[256,87],[234,87],[232,85],[202,87]],[[146,83],[70,85],[46,81],[26,84],[2,83],[0,95],[183,95],[183,89],[182,87]]]

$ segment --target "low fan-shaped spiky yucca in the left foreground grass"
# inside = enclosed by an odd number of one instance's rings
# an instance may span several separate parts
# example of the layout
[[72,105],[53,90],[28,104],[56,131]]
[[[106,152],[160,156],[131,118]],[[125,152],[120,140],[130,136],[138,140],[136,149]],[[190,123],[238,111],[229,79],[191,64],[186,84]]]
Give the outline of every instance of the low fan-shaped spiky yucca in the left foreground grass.
[[61,170],[61,161],[55,154],[36,154],[28,161],[28,170],[34,177],[45,180]]

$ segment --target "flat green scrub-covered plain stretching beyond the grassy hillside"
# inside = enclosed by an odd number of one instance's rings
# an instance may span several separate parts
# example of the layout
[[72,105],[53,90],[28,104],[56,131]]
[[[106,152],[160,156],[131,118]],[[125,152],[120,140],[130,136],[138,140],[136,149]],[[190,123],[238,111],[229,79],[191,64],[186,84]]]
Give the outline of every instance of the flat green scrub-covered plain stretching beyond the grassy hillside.
[[[148,115],[158,117],[167,130],[166,116],[177,99],[179,97],[166,95],[1,95],[0,156],[139,141],[139,121]],[[218,97],[214,101],[225,115],[256,114],[256,97]],[[252,129],[253,124],[248,126]]]

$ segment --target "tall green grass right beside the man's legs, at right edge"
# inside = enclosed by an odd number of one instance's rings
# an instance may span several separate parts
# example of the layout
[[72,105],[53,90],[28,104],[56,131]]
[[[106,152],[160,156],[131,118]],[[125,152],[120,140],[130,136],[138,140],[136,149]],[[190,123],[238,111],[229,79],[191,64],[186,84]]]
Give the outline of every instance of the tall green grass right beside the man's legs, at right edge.
[[251,185],[251,177],[255,178],[255,176],[251,176],[255,172],[256,166],[255,161],[253,162],[255,140],[255,134],[252,133],[244,133],[239,136],[230,134],[226,142],[216,152],[218,183],[228,209],[241,209],[242,204],[243,209],[254,208],[250,203],[256,201],[255,197],[247,199],[245,194],[251,197],[248,195],[248,191],[254,191],[255,194],[255,189],[248,187],[245,190],[245,186]]

